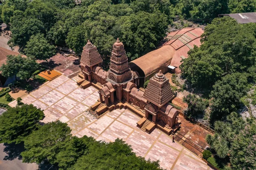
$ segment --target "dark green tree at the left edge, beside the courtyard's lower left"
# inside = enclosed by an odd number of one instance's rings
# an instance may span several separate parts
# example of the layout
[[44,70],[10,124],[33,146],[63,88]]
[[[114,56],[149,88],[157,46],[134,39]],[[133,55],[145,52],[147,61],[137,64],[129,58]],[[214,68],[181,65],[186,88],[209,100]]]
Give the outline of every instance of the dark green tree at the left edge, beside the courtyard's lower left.
[[0,142],[23,142],[33,130],[38,129],[38,122],[43,116],[43,111],[33,105],[9,108],[0,116]]

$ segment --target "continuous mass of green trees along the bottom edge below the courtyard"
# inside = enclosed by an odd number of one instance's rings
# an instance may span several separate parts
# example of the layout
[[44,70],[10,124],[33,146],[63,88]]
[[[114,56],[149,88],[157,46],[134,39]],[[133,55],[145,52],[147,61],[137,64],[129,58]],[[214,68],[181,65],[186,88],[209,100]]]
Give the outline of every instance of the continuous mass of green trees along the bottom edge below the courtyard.
[[122,140],[105,143],[71,135],[70,127],[50,122],[33,131],[24,142],[23,162],[49,161],[60,170],[160,170],[158,161],[137,157]]

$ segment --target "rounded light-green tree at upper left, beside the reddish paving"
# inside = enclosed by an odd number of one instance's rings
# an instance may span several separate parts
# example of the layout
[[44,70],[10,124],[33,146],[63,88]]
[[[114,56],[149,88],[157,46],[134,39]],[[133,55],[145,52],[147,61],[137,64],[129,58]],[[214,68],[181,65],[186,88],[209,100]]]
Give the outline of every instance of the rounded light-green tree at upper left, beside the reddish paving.
[[27,56],[36,59],[48,60],[55,54],[55,46],[50,45],[43,34],[32,35],[27,42],[24,52]]

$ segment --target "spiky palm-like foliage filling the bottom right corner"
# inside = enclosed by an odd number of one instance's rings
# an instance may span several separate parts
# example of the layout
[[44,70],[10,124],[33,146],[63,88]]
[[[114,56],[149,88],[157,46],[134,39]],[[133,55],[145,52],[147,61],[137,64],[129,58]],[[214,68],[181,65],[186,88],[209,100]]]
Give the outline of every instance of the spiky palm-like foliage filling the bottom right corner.
[[[254,170],[256,168],[256,122],[243,120],[238,113],[232,112],[227,121],[216,121],[215,134],[207,135],[206,141],[213,153],[221,158],[222,164],[231,162],[235,170]],[[219,166],[219,165],[218,165]]]

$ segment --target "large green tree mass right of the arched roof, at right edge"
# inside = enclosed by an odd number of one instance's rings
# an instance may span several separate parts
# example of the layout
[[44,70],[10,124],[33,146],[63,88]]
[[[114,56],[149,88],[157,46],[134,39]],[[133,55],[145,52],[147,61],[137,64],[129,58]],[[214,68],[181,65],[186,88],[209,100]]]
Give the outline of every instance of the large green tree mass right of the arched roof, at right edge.
[[237,111],[241,98],[256,80],[256,24],[216,18],[202,35],[202,45],[189,51],[180,66],[183,76],[212,98],[212,120]]

